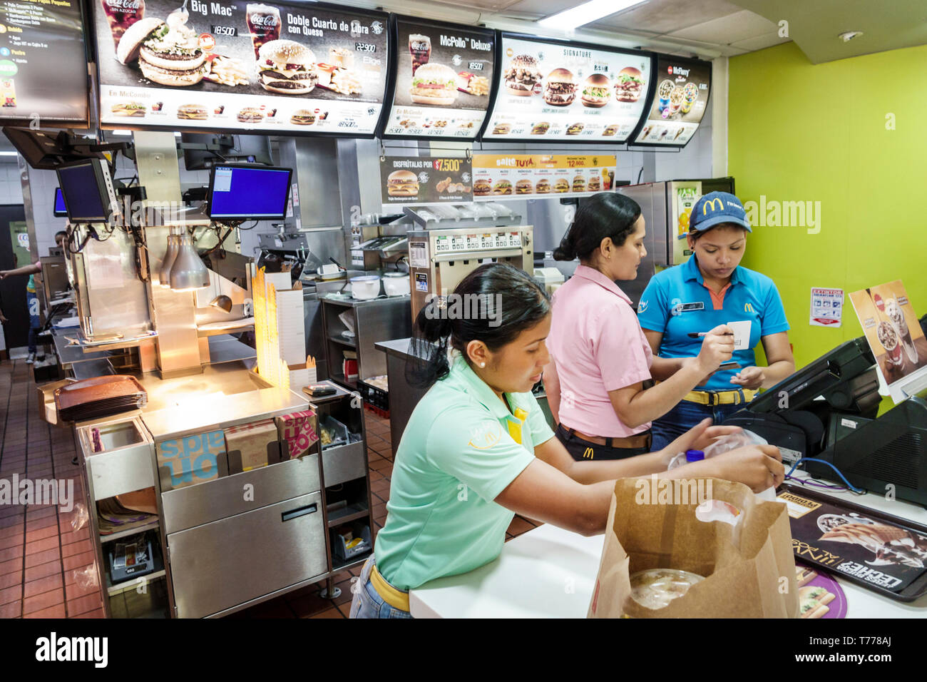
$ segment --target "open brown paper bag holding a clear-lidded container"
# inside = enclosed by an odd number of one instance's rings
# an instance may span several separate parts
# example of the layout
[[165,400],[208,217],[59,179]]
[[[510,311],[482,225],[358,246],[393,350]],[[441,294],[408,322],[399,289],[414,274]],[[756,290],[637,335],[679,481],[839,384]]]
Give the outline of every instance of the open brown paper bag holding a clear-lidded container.
[[[737,526],[699,521],[695,510],[704,498],[740,509]],[[689,571],[705,580],[665,608],[647,609],[630,598],[629,576],[653,568]],[[618,481],[588,615],[796,618],[798,587],[785,505],[759,501],[743,483],[718,479]]]

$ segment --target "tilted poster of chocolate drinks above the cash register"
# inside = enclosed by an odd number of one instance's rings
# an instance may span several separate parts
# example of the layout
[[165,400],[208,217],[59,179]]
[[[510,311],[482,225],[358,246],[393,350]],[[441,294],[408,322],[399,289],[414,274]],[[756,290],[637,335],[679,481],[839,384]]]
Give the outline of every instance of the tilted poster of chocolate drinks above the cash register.
[[927,380],[927,339],[905,285],[895,279],[854,291],[850,301],[892,399],[904,400],[906,387]]

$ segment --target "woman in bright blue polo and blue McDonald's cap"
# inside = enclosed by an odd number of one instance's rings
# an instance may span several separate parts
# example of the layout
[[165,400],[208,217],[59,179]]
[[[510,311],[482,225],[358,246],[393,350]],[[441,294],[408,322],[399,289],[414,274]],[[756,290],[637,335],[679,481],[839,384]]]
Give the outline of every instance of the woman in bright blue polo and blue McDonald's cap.
[[[664,448],[679,434],[706,417],[716,424],[743,409],[756,392],[767,389],[795,371],[789,323],[773,281],[741,266],[746,233],[751,232],[743,204],[727,192],[711,192],[692,208],[689,249],[692,257],[650,280],[641,295],[638,319],[654,355],[661,363],[655,380],[666,380],[692,363],[709,329],[730,322],[749,322],[749,341],[734,351],[740,367],[719,370],[706,378],[704,390],[692,391],[653,423],[654,450]],[[763,344],[768,367],[756,367],[754,348]],[[654,365],[654,367],[657,367]]]

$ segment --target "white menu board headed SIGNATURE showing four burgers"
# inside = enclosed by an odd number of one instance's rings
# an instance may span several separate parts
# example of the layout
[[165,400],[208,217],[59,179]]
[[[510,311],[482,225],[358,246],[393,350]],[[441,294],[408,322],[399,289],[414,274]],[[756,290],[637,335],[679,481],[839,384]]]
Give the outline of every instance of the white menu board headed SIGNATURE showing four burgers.
[[502,33],[501,54],[483,140],[625,142],[641,120],[645,53]]

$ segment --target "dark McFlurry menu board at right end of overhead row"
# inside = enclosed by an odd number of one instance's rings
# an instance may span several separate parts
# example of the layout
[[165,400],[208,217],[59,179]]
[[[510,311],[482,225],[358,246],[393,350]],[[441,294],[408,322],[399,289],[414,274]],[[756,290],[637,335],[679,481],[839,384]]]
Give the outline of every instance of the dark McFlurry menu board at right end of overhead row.
[[654,99],[633,144],[685,147],[708,106],[711,62],[657,55]]

